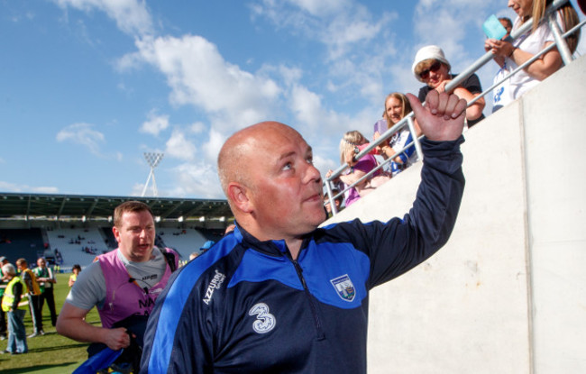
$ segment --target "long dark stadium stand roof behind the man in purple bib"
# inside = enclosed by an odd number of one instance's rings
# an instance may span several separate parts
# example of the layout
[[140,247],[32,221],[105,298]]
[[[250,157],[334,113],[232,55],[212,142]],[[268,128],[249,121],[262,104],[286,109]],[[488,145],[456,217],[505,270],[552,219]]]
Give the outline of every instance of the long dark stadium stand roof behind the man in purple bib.
[[[81,196],[14,194],[0,192],[0,219],[101,220],[108,219],[114,207],[128,200],[138,200],[151,206],[161,220],[205,217],[228,221],[233,217],[226,200],[185,199],[138,196]],[[182,218],[181,218],[182,217]],[[224,218],[222,218],[224,217]]]

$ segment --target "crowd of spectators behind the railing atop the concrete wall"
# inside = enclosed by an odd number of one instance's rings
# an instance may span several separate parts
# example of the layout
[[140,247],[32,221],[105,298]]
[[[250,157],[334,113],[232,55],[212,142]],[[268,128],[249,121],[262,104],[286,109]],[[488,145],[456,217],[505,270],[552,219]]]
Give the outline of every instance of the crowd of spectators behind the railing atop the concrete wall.
[[[484,49],[494,54],[493,59],[499,66],[494,78],[495,83],[507,78],[518,66],[554,43],[554,33],[545,22],[545,9],[552,3],[553,0],[508,0],[508,6],[517,14],[516,20],[512,22],[505,17],[499,18],[504,28],[504,36],[499,40],[489,38],[484,43]],[[530,19],[535,20],[532,29],[512,40],[510,34]],[[578,14],[569,2],[558,9],[555,19],[562,32],[571,30],[579,23]],[[576,50],[579,39],[580,31],[574,32],[566,39],[571,53]],[[562,66],[560,52],[556,48],[548,50],[540,58],[495,87],[492,93],[492,112],[510,104]],[[446,59],[444,50],[437,45],[427,45],[417,50],[411,70],[417,81],[425,84],[419,89],[417,95],[421,102],[425,101],[430,90],[436,90],[440,94],[446,92],[446,87],[457,77],[457,74],[452,72],[452,64]],[[451,87],[450,91],[448,93],[453,93],[466,100],[467,103],[473,101],[466,109],[467,128],[470,129],[485,118],[483,111],[486,103],[484,97],[477,97],[482,94],[482,87],[480,78],[476,74],[464,78],[458,86]],[[385,133],[409,113],[411,113],[411,105],[407,96],[399,92],[389,94],[384,101],[382,118],[374,123],[372,136],[373,141],[377,141],[385,134],[385,139],[360,160],[354,160],[354,156],[369,146],[369,141],[358,131],[346,132],[343,135],[340,142],[340,161],[341,164],[347,164],[349,168],[342,175],[329,181],[336,191],[333,196],[339,194],[339,191],[345,191],[343,205],[338,205],[336,201],[336,211],[352,205],[417,161],[413,139],[414,136],[421,135],[417,118],[414,118],[415,133],[412,133],[407,125],[390,135]],[[372,169],[379,167],[381,162],[385,162],[384,167],[377,169],[368,178],[362,179]],[[329,170],[325,178],[331,178],[333,173],[333,170]],[[325,209],[328,214],[331,214],[332,209],[329,204],[330,200],[325,196]]]

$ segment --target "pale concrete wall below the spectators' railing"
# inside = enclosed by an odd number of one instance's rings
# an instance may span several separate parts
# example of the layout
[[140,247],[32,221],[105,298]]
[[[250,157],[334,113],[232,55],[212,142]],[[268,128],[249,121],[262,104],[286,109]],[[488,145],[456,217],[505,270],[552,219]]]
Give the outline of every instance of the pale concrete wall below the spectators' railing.
[[[465,133],[450,242],[371,291],[369,373],[586,372],[585,86],[582,57]],[[328,223],[402,216],[421,166]]]

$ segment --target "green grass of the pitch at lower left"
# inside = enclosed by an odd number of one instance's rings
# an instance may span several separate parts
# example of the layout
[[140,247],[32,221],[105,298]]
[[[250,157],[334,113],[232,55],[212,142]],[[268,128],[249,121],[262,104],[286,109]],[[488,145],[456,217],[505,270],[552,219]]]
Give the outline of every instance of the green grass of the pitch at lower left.
[[[59,314],[63,301],[69,292],[69,274],[57,274],[55,285],[55,304]],[[99,315],[93,308],[86,317],[90,324],[100,325]],[[24,317],[26,334],[32,333],[31,314]],[[0,372],[3,374],[15,373],[42,373],[62,374],[70,373],[83,361],[87,360],[87,343],[75,342],[55,333],[55,327],[50,325],[49,308],[43,306],[42,326],[45,335],[27,339],[29,352],[21,355],[0,354]],[[6,349],[7,341],[0,342],[0,350]]]

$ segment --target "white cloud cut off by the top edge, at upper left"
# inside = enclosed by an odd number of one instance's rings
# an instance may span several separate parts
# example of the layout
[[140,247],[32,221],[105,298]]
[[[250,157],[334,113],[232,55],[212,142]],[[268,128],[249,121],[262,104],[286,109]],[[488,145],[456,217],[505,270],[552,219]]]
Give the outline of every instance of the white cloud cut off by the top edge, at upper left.
[[114,19],[118,28],[130,35],[140,37],[152,34],[151,14],[145,1],[139,0],[53,0],[61,8],[68,6],[83,12],[94,9],[105,12]]

